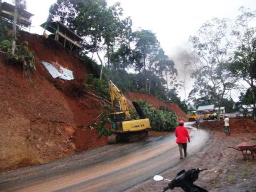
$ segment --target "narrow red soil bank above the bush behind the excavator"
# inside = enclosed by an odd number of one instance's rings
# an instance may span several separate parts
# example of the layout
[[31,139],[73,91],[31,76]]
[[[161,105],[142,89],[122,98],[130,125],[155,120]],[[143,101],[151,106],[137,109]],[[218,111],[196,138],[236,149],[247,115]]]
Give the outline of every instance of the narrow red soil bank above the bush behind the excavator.
[[139,93],[135,91],[128,91],[126,94],[126,98],[128,99],[128,105],[131,107],[133,104],[131,101],[135,100],[147,100],[151,105],[153,105],[156,109],[159,109],[161,106],[168,107],[169,110],[176,113],[179,120],[187,121],[187,114],[182,111],[182,109],[176,103],[165,103],[161,99],[154,97],[153,95],[146,94],[146,93]]

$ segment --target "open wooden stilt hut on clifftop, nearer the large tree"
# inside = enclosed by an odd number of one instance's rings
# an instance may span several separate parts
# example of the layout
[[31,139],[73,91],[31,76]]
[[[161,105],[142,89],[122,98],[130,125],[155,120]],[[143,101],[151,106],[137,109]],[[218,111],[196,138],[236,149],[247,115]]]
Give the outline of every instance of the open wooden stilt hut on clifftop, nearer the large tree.
[[73,53],[78,54],[78,52],[83,49],[80,43],[83,41],[83,39],[71,31],[69,27],[65,26],[63,23],[59,21],[45,22],[40,26],[51,33],[47,36],[55,39]]

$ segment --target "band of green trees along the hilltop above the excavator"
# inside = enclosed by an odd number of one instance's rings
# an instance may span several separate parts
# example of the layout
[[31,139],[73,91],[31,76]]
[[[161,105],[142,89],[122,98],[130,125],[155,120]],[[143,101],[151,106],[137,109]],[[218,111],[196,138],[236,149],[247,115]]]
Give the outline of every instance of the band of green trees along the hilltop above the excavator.
[[[86,37],[83,43],[86,51],[79,56],[89,64],[95,77],[111,79],[122,90],[140,90],[167,99],[168,85],[174,85],[174,81],[165,78],[175,78],[174,62],[162,49],[158,50],[159,42],[152,31],[132,32],[131,19],[123,18],[122,14],[120,3],[108,6],[105,0],[58,0],[50,7],[48,21],[58,19],[81,37]],[[100,66],[85,55],[87,51],[102,50],[107,58],[103,75],[102,59],[99,59]],[[135,73],[128,74],[126,69],[129,68]]]

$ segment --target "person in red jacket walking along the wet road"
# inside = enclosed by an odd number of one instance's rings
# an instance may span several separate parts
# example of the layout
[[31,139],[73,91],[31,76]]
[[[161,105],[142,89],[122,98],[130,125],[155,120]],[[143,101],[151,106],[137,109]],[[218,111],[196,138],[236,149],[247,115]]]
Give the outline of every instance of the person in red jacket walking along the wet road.
[[184,122],[179,121],[179,126],[175,130],[175,135],[177,137],[176,143],[178,143],[179,146],[179,154],[181,155],[180,159],[183,159],[183,150],[184,150],[184,156],[187,156],[187,140],[190,142],[190,136],[189,131],[187,131],[187,128],[183,126]]

